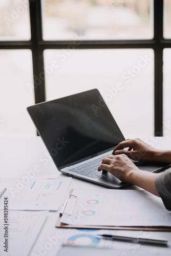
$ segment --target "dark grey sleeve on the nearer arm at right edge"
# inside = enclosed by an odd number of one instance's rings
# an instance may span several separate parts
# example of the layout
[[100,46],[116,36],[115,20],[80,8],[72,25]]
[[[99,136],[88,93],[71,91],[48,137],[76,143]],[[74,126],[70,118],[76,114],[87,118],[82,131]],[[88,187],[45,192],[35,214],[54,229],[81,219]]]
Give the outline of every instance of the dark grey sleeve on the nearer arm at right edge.
[[171,168],[156,178],[156,189],[167,210],[171,210]]

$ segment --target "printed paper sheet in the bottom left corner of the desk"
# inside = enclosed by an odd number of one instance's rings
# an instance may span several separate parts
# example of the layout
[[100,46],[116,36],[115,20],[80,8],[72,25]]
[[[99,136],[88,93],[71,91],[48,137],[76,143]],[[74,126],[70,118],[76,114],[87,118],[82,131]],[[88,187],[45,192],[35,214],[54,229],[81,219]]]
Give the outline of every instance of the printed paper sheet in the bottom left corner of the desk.
[[11,210],[8,213],[8,222],[4,223],[4,211],[0,211],[0,254],[27,256],[44,225],[48,211]]

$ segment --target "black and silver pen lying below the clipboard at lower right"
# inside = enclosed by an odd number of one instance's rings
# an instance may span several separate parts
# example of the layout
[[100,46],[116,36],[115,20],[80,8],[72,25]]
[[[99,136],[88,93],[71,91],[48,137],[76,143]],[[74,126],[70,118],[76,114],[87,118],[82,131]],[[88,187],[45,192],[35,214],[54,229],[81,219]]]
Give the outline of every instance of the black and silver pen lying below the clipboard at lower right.
[[130,237],[130,236],[115,236],[111,234],[98,234],[98,237],[109,240],[128,241],[132,243],[149,243],[158,245],[167,245],[168,239],[165,238],[144,238],[144,237]]

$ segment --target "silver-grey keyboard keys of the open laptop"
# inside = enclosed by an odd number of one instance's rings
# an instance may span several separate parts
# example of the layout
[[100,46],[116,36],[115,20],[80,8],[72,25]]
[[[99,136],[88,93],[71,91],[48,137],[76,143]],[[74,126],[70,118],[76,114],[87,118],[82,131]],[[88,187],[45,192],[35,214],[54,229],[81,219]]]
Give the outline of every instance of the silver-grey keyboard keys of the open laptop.
[[[109,156],[109,153],[108,155],[106,156]],[[84,176],[87,176],[87,177],[91,177],[91,178],[98,178],[100,176],[103,175],[102,173],[102,170],[99,172],[97,170],[98,166],[101,164],[101,161],[102,159],[104,158],[105,156],[103,157],[99,157],[99,158],[96,158],[94,160],[92,160],[91,162],[88,162],[88,163],[84,163],[84,164],[81,164],[79,166],[76,166],[72,169],[69,169],[70,172],[73,172],[73,173],[77,173],[77,174],[81,174],[81,175],[84,175]],[[137,161],[133,160],[133,159],[130,159],[133,163],[136,163]],[[107,172],[106,172],[107,173]],[[105,174],[105,173],[104,173]]]

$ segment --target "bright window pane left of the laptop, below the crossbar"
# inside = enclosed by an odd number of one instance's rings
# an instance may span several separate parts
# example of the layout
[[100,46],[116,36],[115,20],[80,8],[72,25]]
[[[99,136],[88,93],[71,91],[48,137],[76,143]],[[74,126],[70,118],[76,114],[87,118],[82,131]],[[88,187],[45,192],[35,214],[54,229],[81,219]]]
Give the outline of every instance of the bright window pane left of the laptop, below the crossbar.
[[34,104],[31,51],[1,50],[0,59],[0,134],[34,136],[34,125],[26,111]]

